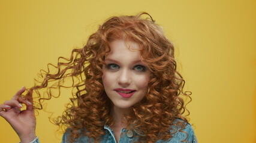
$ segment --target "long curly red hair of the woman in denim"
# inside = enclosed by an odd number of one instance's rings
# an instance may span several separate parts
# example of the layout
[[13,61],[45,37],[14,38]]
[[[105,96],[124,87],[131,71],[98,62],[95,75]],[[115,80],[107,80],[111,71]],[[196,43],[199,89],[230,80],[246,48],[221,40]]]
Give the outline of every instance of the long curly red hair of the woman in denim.
[[[141,18],[143,14],[149,18]],[[83,48],[73,49],[70,59],[59,57],[58,66],[49,64],[58,72],[50,73],[48,67],[48,71],[41,72],[43,81],[40,85],[30,89],[39,98],[35,108],[42,109],[44,100],[59,97],[51,92],[52,89],[67,88],[64,80],[72,79],[69,87],[76,89],[76,93],[62,116],[55,120],[57,125],[67,126],[71,142],[82,134],[98,142],[104,134],[104,126],[113,125],[112,101],[104,91],[101,76],[104,57],[111,50],[109,43],[119,38],[140,45],[141,58],[151,72],[145,97],[133,105],[131,114],[124,116],[127,129],[142,133],[141,142],[155,142],[170,139],[179,131],[171,132],[171,126],[182,130],[188,123],[182,116],[186,108],[180,95],[189,97],[191,92],[183,92],[185,80],[176,70],[174,46],[161,27],[147,13],[111,17],[89,37]],[[47,96],[40,94],[41,88],[47,88]]]

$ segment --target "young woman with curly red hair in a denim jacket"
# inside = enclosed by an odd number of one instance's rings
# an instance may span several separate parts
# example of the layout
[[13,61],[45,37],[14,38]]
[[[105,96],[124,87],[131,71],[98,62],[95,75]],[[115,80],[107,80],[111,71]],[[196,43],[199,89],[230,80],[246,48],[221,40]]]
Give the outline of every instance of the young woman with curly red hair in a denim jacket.
[[[144,14],[149,18],[141,18]],[[62,142],[197,142],[182,116],[186,108],[180,95],[190,92],[183,92],[174,47],[149,14],[109,18],[70,59],[59,59],[66,62],[58,61],[58,73],[47,71],[26,96],[22,88],[0,105],[0,116],[22,143],[38,142],[34,108],[56,97],[51,89],[63,87],[67,78],[73,79],[76,94],[55,121],[67,127]],[[42,88],[48,89],[47,97]],[[21,104],[26,110],[20,111]]]

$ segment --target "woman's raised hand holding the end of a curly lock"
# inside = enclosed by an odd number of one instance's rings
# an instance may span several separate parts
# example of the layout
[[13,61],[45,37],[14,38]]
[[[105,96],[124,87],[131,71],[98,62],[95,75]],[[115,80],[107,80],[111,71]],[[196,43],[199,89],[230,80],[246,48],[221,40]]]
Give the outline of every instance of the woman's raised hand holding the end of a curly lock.
[[[25,90],[26,88],[23,87],[11,100],[5,101],[4,104],[0,105],[0,116],[10,123],[22,143],[31,142],[36,138],[32,93],[29,93],[29,100],[26,100],[21,96]],[[26,110],[20,111],[22,104],[26,105]]]

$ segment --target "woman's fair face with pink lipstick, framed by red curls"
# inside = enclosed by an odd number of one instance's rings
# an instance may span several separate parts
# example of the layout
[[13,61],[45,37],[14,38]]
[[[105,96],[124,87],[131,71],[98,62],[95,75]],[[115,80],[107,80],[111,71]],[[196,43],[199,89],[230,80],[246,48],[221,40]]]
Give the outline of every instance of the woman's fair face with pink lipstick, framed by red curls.
[[110,48],[103,66],[104,89],[116,108],[127,109],[143,99],[150,71],[141,61],[138,43],[118,39]]

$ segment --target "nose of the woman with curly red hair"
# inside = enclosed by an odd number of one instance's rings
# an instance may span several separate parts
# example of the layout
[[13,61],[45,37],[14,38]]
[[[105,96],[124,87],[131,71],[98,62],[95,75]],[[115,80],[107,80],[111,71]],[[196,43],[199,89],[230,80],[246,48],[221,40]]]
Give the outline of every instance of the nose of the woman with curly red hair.
[[129,86],[131,84],[131,73],[127,69],[122,69],[119,73],[118,84],[121,86]]

